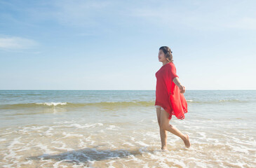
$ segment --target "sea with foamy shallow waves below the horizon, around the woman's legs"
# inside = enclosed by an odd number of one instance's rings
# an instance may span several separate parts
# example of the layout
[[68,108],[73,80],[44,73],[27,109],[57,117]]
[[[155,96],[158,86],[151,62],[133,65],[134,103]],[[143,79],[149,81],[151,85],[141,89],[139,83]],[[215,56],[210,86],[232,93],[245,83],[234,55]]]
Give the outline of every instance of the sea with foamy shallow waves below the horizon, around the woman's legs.
[[0,90],[0,167],[256,167],[256,90],[187,90],[161,151],[155,90]]

